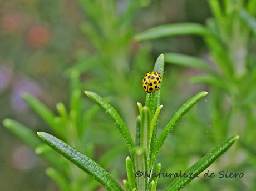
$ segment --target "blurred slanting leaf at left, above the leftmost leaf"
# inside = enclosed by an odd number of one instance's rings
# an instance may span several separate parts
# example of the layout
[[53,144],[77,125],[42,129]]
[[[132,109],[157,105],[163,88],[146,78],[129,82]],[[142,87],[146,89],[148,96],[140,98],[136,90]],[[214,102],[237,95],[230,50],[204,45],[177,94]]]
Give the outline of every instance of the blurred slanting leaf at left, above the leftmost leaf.
[[45,104],[41,103],[40,100],[28,93],[23,93],[22,98],[46,122],[46,124],[49,125],[49,127],[55,130],[58,135],[63,136],[63,129],[58,127],[55,123],[55,115]]

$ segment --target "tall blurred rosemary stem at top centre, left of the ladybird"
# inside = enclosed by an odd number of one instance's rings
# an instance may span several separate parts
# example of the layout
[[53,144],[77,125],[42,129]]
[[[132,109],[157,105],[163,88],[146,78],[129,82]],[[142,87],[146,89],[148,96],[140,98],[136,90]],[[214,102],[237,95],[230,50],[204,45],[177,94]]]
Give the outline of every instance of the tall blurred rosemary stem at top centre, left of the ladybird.
[[90,73],[84,87],[99,93],[107,89],[115,95],[116,106],[127,126],[134,127],[136,116],[131,105],[139,94],[128,95],[130,87],[134,90],[140,87],[134,82],[141,78],[141,65],[146,66],[149,61],[149,48],[136,50],[134,22],[137,11],[149,6],[150,1],[78,0],[78,3],[86,15],[80,28],[92,48],[84,50],[67,73],[72,69]]

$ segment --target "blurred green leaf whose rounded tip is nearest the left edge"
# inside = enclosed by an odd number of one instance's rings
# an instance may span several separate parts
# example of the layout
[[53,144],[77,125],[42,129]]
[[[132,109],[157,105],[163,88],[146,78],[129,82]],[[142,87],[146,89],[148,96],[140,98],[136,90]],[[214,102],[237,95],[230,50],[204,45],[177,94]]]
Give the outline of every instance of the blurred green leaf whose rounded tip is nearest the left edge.
[[25,125],[17,122],[13,119],[4,119],[3,125],[9,129],[16,137],[21,139],[29,147],[36,149],[38,145],[41,145],[40,139],[36,136],[36,133],[33,132],[30,128]]

